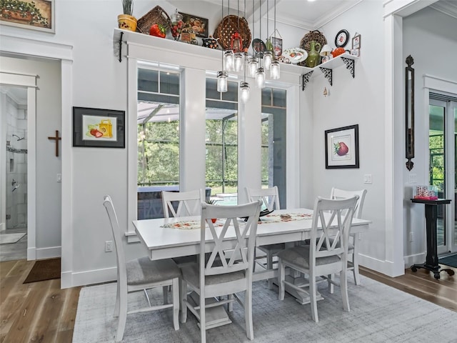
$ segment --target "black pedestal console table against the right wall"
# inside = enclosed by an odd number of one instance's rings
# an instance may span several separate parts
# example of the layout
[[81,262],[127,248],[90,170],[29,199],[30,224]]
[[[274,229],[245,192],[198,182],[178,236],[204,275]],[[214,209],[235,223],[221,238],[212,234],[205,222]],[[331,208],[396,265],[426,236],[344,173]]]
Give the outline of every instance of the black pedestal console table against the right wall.
[[[426,235],[427,235],[427,256],[426,262],[421,264],[413,264],[411,270],[417,272],[417,269],[423,268],[433,272],[435,279],[440,278],[440,272],[448,272],[453,275],[452,269],[441,269],[438,264],[438,252],[436,247],[436,220],[438,219],[438,205],[450,204],[450,199],[411,199],[411,202],[424,204],[426,207]],[[440,270],[441,269],[441,270]]]

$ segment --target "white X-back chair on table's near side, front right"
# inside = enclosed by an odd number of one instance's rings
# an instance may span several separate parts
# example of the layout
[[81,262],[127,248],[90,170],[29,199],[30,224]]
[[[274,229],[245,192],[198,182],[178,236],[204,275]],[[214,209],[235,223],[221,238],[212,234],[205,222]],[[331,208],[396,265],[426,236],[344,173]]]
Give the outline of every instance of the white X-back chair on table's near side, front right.
[[[346,264],[351,222],[358,196],[349,199],[323,199],[318,197],[314,204],[310,244],[286,248],[278,256],[278,283],[280,300],[284,299],[287,287],[309,294],[311,317],[318,322],[317,283],[328,282],[341,288],[343,309],[349,311],[348,281]],[[308,283],[294,284],[286,281],[286,267],[308,275]],[[339,284],[333,274],[339,273]]]

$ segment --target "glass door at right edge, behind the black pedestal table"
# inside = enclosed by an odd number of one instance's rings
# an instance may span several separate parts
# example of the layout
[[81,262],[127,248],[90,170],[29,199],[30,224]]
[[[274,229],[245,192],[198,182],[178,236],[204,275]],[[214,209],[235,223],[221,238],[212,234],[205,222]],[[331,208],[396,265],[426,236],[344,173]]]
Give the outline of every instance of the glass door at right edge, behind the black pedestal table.
[[429,182],[451,206],[438,207],[438,254],[457,252],[457,98],[431,92],[429,101]]

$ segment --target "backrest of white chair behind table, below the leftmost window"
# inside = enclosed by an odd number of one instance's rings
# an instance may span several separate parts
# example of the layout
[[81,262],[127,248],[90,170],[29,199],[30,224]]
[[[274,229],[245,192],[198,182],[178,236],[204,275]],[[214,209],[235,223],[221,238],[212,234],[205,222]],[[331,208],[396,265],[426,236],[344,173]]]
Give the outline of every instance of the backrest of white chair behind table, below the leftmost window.
[[[164,217],[188,217],[198,216],[201,213],[201,202],[204,202],[203,189],[195,189],[188,192],[166,192],[162,191],[162,206]],[[178,202],[178,207],[174,204]]]

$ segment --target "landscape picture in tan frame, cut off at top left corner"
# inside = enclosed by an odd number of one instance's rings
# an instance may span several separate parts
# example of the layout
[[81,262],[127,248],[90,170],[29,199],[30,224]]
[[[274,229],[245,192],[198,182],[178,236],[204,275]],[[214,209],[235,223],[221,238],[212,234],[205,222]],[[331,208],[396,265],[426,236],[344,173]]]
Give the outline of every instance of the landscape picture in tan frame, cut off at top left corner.
[[55,0],[2,0],[0,24],[55,32]]

